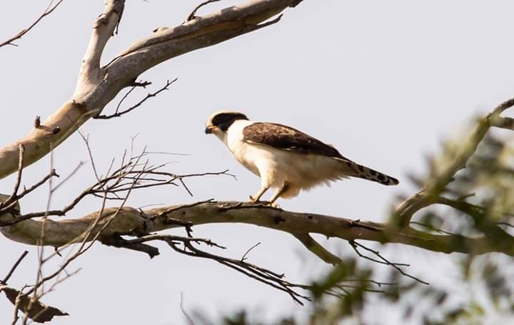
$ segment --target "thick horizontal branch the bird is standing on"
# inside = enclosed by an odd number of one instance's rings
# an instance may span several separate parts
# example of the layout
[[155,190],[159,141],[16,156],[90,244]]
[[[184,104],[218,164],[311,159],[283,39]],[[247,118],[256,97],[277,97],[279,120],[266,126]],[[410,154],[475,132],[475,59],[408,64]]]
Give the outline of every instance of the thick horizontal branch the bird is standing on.
[[[95,234],[104,220],[115,214],[117,209],[105,209],[103,219],[96,225]],[[98,212],[79,219],[62,221],[47,220],[45,244],[63,246],[70,241],[81,241],[84,231],[95,221]],[[0,216],[1,217],[1,216]],[[498,251],[514,256],[514,244],[498,243],[488,238],[468,238],[465,236],[435,235],[415,229],[391,230],[384,224],[354,221],[351,219],[306,214],[273,209],[258,204],[241,202],[202,202],[183,206],[164,206],[141,211],[129,207],[121,209],[116,218],[101,231],[99,241],[120,236],[140,236],[153,231],[181,227],[176,221],[186,221],[192,225],[217,223],[243,223],[285,231],[293,236],[298,234],[323,234],[345,240],[368,240],[380,243],[397,243],[420,247],[443,253],[485,254]],[[0,231],[14,241],[35,245],[41,236],[41,221],[26,220],[13,226],[4,226]],[[88,240],[91,240],[89,238]]]

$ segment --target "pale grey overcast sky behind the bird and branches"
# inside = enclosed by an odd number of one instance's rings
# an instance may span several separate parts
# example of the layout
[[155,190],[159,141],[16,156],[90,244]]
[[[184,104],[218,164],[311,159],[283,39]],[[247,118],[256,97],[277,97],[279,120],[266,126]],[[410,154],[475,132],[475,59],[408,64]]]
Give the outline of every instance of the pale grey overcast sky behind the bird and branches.
[[[221,1],[201,13],[236,3]],[[31,24],[46,4],[46,0],[7,1],[0,11],[0,39]],[[109,42],[104,61],[157,26],[180,24],[195,4],[127,1],[119,35]],[[91,26],[103,5],[100,0],[65,0],[17,42],[19,47],[0,49],[0,146],[29,132],[34,116],[46,119],[69,99]],[[130,206],[145,206],[211,198],[244,201],[257,191],[258,178],[234,161],[216,137],[203,134],[213,111],[234,109],[257,121],[295,126],[333,144],[343,156],[397,177],[400,185],[351,179],[282,200],[281,207],[384,221],[396,197],[413,192],[407,175],[425,171],[425,156],[437,152],[442,139],[458,135],[475,114],[514,96],[513,12],[510,0],[305,0],[288,9],[279,24],[148,71],[141,79],[153,82],[150,91],[166,79],[178,81],[141,109],[121,119],[88,121],[81,131],[89,134],[96,164],[104,171],[138,134],[138,150],[146,145],[151,151],[189,154],[151,158],[155,163],[173,161],[168,171],[230,169],[238,176],[238,181],[226,176],[191,179],[188,186],[194,197],[173,187],[139,191],[129,199]],[[144,94],[141,91],[131,100]],[[54,151],[59,174],[66,175],[87,160],[78,134]],[[24,171],[24,184],[33,184],[48,170],[46,157]],[[51,206],[64,206],[93,182],[91,164],[86,164],[56,193]],[[0,193],[9,194],[13,184],[12,177],[1,180]],[[46,193],[41,189],[21,201],[22,211],[44,209]],[[87,201],[69,217],[99,206],[99,201]],[[217,224],[195,227],[194,234],[228,246],[223,254],[236,258],[261,242],[249,261],[285,272],[290,281],[308,281],[328,269],[296,239],[278,231]],[[344,241],[331,239],[329,244],[333,251],[351,254]],[[11,286],[34,281],[36,249],[0,238],[0,274],[24,249],[30,254]],[[440,284],[442,272],[446,281],[457,274],[450,267],[455,256],[420,255],[420,250],[411,248],[396,252],[399,262],[413,264],[411,272],[427,281]],[[435,264],[440,272],[431,271]],[[179,256],[164,246],[161,256],[149,260],[137,252],[98,244],[70,271],[79,268],[79,274],[44,299],[71,314],[54,324],[184,324],[181,292],[186,310],[201,310],[213,318],[240,308],[264,320],[308,311],[281,291],[215,262]],[[12,306],[0,299],[1,324],[11,320],[11,311]]]

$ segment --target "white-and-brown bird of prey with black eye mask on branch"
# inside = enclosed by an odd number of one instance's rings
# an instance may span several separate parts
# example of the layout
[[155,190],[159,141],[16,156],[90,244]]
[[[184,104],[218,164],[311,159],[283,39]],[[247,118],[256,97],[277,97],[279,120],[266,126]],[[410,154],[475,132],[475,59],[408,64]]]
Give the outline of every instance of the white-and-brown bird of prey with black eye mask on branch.
[[348,176],[396,185],[398,179],[357,164],[329,144],[290,126],[248,120],[237,111],[209,116],[206,134],[216,135],[246,169],[261,177],[261,189],[250,200],[258,202],[270,188],[276,199],[297,196],[301,190]]

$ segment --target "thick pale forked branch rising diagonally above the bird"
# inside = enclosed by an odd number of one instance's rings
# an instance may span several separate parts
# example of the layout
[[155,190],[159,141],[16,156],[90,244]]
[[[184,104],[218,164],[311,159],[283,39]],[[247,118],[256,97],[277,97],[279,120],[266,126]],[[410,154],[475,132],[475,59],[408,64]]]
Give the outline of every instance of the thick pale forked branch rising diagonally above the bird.
[[73,96],[23,139],[0,149],[0,179],[18,169],[20,144],[26,150],[24,167],[29,166],[49,154],[51,149],[61,144],[92,116],[101,114],[106,104],[121,89],[131,86],[139,74],[152,66],[273,24],[278,19],[267,23],[264,21],[298,2],[253,0],[197,17],[174,28],[159,29],[151,37],[131,46],[112,64],[99,68],[101,52],[119,24],[124,8],[122,0],[107,1],[104,14],[99,16],[94,25]]

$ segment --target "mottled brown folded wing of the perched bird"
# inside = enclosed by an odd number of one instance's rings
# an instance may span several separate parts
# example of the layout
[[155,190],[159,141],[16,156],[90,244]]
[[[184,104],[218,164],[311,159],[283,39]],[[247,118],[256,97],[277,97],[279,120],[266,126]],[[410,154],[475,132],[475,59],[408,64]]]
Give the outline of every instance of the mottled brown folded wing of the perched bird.
[[243,129],[244,141],[266,144],[276,149],[296,151],[301,154],[322,154],[350,160],[339,154],[336,148],[319,141],[292,127],[275,123],[253,123]]

